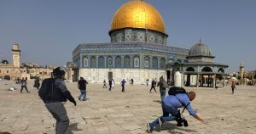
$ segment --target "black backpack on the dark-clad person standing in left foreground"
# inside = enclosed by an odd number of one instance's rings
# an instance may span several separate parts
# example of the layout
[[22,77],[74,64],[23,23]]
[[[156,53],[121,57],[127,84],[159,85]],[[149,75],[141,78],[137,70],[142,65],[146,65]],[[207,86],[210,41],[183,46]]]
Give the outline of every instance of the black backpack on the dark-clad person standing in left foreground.
[[55,88],[54,79],[52,78],[44,79],[44,81],[42,82],[42,86],[38,91],[38,95],[43,100],[44,103],[46,103],[46,101],[49,100],[49,98],[52,98],[54,88]]

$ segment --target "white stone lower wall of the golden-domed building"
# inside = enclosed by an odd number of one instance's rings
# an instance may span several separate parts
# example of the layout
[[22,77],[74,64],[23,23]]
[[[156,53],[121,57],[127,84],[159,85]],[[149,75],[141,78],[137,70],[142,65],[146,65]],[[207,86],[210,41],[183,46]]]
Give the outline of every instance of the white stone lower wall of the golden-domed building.
[[79,69],[79,77],[82,76],[86,81],[102,83],[105,79],[108,81],[108,72],[113,72],[113,79],[116,83],[125,79],[125,81],[134,80],[134,84],[145,84],[148,79],[151,81],[160,76],[166,79],[166,70],[147,70],[147,69]]

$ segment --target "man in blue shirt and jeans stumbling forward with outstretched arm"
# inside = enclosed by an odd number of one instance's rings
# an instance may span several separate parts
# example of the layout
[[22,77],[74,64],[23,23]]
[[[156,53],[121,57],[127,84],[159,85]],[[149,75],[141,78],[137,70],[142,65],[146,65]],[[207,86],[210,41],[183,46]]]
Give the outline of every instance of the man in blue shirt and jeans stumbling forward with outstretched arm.
[[[180,114],[177,110],[178,108],[184,107],[185,109],[188,109],[189,114],[192,115],[196,120],[201,121],[202,123],[205,123],[204,120],[202,120],[197,114],[194,109],[192,109],[190,105],[190,101],[193,101],[195,99],[195,92],[191,91],[188,94],[187,93],[177,93],[176,95],[169,95],[166,98],[163,99],[162,102],[162,110],[163,115],[154,120],[151,123],[147,123],[148,132],[152,132],[154,127],[157,125],[160,125],[160,127],[163,126],[163,123],[166,121],[172,121],[177,120],[177,126],[180,126],[181,120],[180,120]],[[171,115],[169,115],[171,114]],[[181,125],[182,126],[182,125]]]

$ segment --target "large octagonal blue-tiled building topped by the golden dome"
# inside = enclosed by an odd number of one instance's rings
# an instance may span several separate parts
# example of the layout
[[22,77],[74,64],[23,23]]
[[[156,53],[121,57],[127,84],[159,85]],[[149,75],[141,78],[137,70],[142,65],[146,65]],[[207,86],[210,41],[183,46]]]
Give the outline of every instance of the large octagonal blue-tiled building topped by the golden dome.
[[164,20],[141,0],[125,3],[116,11],[108,34],[111,42],[79,44],[73,50],[73,81],[80,76],[96,82],[168,79],[168,61],[183,62],[189,53],[185,48],[167,46]]

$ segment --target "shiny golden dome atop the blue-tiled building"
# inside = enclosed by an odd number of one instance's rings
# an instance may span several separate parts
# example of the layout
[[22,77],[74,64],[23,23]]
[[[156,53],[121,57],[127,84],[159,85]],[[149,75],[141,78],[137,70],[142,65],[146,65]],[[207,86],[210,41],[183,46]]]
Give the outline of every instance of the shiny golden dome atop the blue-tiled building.
[[132,0],[120,7],[113,16],[111,30],[125,27],[143,28],[166,34],[161,14],[143,0]]

